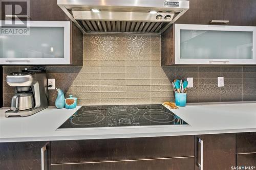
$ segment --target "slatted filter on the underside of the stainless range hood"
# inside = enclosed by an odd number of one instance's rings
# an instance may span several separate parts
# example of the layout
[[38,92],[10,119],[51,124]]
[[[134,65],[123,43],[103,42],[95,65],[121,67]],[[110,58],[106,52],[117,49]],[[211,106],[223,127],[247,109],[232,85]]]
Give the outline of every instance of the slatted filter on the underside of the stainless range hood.
[[167,22],[78,20],[86,33],[159,33]]

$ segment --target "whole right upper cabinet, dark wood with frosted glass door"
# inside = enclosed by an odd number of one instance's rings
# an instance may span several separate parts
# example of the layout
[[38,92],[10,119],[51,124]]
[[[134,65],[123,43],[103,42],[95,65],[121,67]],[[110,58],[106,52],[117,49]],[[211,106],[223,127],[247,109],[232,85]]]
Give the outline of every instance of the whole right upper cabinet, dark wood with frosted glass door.
[[256,64],[255,9],[255,0],[190,0],[161,34],[161,65]]

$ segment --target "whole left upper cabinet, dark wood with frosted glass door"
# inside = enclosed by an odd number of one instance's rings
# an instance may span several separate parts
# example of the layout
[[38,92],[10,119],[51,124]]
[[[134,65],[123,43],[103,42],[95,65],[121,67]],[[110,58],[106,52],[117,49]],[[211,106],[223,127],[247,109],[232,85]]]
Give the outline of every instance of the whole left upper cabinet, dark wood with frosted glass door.
[[[19,14],[13,15],[8,8],[2,10],[1,64],[82,65],[83,34],[57,0],[28,2],[19,4]],[[11,7],[16,2],[6,3]]]

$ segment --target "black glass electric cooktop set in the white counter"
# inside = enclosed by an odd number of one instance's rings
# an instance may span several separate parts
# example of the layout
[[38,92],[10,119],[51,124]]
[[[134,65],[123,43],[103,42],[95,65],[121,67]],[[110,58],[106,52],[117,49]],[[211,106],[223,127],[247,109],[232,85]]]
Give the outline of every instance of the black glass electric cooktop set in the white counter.
[[58,129],[188,125],[163,105],[82,106]]

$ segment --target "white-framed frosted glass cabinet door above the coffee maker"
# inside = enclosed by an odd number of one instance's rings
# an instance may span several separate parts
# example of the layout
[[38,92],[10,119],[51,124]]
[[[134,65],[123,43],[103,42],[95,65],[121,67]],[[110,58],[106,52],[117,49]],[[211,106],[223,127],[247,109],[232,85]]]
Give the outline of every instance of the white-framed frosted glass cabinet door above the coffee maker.
[[29,21],[26,28],[2,27],[1,64],[69,64],[69,42],[69,21]]

